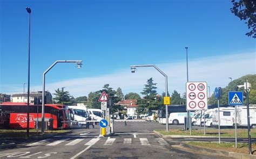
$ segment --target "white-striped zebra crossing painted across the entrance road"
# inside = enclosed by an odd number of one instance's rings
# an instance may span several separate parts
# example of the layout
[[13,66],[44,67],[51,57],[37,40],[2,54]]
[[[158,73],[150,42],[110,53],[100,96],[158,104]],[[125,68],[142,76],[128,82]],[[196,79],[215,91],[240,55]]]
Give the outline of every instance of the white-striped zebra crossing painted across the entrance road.
[[45,139],[33,143],[29,143],[26,146],[57,146],[64,143],[64,146],[75,146],[76,144],[83,144],[84,146],[92,146],[100,141],[103,146],[111,146],[116,141],[123,143],[126,146],[132,144],[140,144],[142,146],[151,146],[151,144],[160,144],[160,146],[166,146],[168,143],[162,138],[151,138],[149,141],[147,138],[87,138],[87,139]]

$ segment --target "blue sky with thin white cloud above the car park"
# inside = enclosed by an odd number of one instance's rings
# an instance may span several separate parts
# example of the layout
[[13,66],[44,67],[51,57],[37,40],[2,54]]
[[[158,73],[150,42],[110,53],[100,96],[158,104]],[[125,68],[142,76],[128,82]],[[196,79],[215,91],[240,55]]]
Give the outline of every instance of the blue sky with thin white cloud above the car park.
[[160,93],[164,78],[153,68],[129,71],[132,64],[156,64],[169,73],[169,90],[182,93],[186,46],[190,81],[208,81],[213,88],[226,86],[228,77],[256,73],[255,39],[245,35],[246,24],[231,13],[231,1],[1,0],[0,5],[2,93],[22,93],[28,82],[26,6],[32,10],[31,91],[42,90],[42,74],[56,60],[83,60],[82,69],[70,63],[52,68],[46,90],[64,86],[78,97],[110,83],[124,93],[139,93],[155,76]]

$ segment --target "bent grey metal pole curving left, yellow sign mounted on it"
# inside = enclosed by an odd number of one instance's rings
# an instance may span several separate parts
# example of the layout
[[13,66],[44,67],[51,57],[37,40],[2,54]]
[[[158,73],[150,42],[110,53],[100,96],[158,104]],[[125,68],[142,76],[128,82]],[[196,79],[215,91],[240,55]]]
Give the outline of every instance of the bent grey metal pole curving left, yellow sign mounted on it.
[[[133,65],[130,66],[131,68],[131,72],[135,73],[136,68],[137,67],[154,67],[155,69],[157,69],[159,71],[160,74],[162,74],[165,77],[165,96],[168,96],[168,79],[167,79],[167,75],[161,71],[158,67],[156,67],[154,64],[146,64],[146,65]],[[169,123],[168,123],[168,105],[165,105],[165,111],[166,111],[166,132],[169,131]]]

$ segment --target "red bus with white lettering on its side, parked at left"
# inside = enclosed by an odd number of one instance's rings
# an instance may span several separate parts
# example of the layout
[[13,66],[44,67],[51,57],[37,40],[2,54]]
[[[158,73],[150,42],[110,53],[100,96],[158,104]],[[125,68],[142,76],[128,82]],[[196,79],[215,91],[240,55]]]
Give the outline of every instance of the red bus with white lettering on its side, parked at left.
[[[27,104],[5,102],[0,104],[0,125],[9,128],[26,128],[27,126]],[[45,104],[45,121],[53,121],[52,128],[69,128],[71,115],[68,106],[60,104]],[[35,128],[42,123],[42,105],[30,104],[29,128]],[[50,122],[48,123],[50,124]]]

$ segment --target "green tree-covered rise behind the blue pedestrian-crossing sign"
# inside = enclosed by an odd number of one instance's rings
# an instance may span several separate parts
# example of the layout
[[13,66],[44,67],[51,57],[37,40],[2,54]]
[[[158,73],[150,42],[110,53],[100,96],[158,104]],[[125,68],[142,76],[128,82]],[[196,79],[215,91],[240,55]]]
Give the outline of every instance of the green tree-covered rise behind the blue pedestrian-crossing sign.
[[[256,74],[254,75],[245,75],[238,79],[234,79],[223,89],[223,97],[220,99],[220,104],[228,104],[228,92],[229,91],[242,91],[244,92],[244,105],[246,105],[246,93],[244,88],[237,88],[238,85],[244,85],[248,79],[248,82],[252,84],[251,91],[249,92],[249,104],[256,104]],[[211,96],[209,105],[218,104],[218,101],[215,99],[214,94]]]

